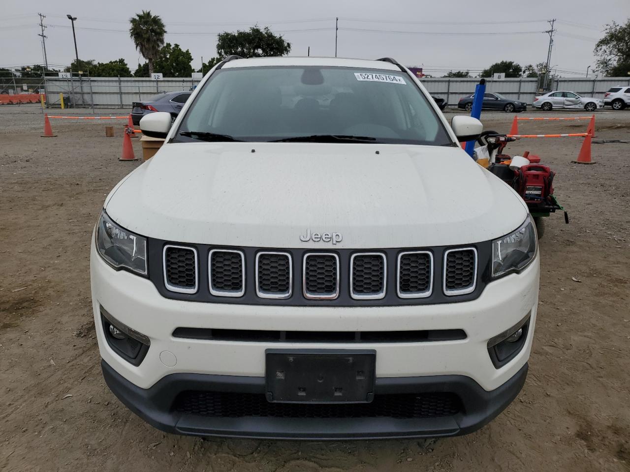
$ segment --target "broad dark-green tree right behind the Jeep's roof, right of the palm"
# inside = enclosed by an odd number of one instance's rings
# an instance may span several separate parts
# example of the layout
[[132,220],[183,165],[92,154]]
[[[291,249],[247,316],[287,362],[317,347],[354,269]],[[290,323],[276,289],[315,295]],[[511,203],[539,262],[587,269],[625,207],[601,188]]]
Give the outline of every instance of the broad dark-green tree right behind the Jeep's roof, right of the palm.
[[291,50],[290,43],[281,35],[274,35],[268,26],[261,30],[258,25],[249,31],[224,32],[217,38],[217,55],[226,57],[232,54],[241,57],[284,56]]

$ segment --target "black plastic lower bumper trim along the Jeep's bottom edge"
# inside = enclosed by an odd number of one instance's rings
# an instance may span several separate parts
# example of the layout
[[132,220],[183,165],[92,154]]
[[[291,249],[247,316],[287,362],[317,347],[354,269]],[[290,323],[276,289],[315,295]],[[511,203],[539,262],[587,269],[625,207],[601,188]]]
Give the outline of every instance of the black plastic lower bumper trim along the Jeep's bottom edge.
[[460,375],[377,378],[374,395],[449,392],[461,398],[462,411],[447,417],[282,418],[207,417],[173,408],[184,391],[265,393],[265,378],[209,374],[170,374],[148,389],[139,388],[101,361],[112,392],[140,418],[174,434],[265,439],[384,439],[468,434],[487,424],[507,407],[525,383],[527,364],[492,391]]

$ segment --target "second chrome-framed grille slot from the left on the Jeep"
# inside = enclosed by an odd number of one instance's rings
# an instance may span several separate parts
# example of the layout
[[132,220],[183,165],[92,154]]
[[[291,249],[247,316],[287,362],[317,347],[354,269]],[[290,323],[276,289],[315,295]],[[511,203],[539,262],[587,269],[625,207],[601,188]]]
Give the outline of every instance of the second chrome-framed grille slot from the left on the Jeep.
[[245,256],[233,249],[212,249],[208,256],[210,293],[215,296],[243,296]]

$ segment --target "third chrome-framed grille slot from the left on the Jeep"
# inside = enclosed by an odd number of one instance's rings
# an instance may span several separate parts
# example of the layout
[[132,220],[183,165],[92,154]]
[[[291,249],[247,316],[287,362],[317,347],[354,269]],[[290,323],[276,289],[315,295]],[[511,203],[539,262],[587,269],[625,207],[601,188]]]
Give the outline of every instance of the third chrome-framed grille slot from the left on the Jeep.
[[261,298],[289,298],[293,288],[293,267],[288,252],[256,254],[256,294]]

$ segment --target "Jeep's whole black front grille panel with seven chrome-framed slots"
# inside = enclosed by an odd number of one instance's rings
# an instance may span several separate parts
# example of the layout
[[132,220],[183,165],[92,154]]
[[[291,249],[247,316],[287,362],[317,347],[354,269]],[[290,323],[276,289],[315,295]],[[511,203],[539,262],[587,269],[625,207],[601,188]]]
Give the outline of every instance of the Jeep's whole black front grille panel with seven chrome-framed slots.
[[[153,244],[149,239],[149,244]],[[474,300],[491,242],[353,250],[215,247],[158,241],[148,278],[166,298],[295,306],[396,306]],[[297,276],[296,276],[297,274]],[[436,282],[437,281],[437,282]]]

